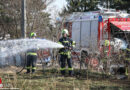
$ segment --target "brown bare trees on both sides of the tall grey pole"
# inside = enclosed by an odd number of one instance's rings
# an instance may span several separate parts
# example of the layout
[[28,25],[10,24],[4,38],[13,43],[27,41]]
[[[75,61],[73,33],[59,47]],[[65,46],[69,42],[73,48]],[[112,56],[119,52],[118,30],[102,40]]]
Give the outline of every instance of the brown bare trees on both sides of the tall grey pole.
[[[45,9],[54,0],[27,0],[27,35],[34,31],[40,37],[51,33],[49,14]],[[0,1],[0,39],[10,34],[11,39],[21,38],[21,0]]]

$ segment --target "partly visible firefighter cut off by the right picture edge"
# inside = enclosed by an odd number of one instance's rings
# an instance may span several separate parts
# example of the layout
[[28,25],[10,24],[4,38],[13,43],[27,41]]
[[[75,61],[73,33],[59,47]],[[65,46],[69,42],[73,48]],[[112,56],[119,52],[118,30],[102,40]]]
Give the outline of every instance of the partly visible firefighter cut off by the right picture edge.
[[126,52],[125,52],[125,75],[128,76],[128,68],[130,64],[130,45],[127,46]]

